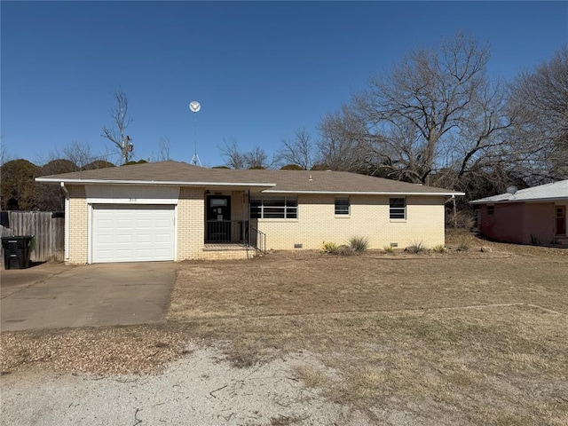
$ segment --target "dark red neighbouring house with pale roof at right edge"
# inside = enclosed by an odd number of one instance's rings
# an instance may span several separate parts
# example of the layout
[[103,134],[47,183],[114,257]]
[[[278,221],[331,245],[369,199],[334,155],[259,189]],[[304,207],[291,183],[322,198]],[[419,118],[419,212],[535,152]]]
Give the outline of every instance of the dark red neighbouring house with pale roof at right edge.
[[568,180],[470,201],[485,237],[517,244],[568,248]]

